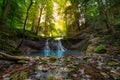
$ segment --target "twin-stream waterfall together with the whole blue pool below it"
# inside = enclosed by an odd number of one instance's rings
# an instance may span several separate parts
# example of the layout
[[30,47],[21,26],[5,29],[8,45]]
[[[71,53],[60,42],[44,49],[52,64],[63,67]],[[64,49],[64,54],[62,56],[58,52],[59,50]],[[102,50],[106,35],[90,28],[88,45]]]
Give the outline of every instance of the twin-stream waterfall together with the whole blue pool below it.
[[[76,50],[67,50],[62,45],[61,40],[56,41],[49,41],[48,39],[45,42],[44,50],[37,51],[37,52],[31,52],[28,54],[29,56],[56,56],[56,57],[62,57],[65,55],[80,55],[82,54],[81,51]],[[27,54],[25,54],[27,55]]]

